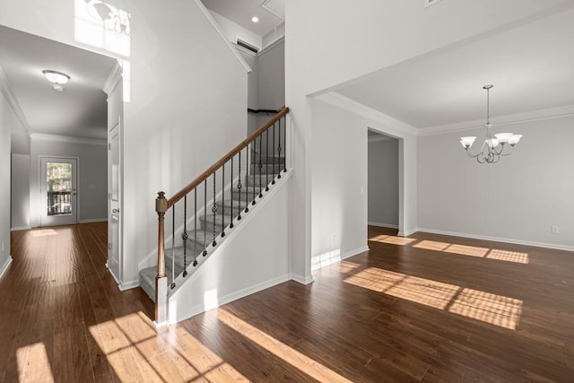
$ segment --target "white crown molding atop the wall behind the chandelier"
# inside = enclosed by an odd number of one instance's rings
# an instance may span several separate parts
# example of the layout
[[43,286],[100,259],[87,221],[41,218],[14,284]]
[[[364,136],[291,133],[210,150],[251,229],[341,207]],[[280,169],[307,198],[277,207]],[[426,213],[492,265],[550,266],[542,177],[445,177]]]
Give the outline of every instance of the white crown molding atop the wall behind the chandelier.
[[[554,118],[567,118],[574,116],[574,105],[564,107],[540,109],[524,113],[516,113],[494,118],[492,126],[508,126],[515,124],[524,124],[532,121],[544,121]],[[484,126],[484,119],[475,119],[472,121],[457,122],[454,124],[430,126],[419,128],[419,135],[442,135],[445,133],[460,132],[464,130],[477,129]]]

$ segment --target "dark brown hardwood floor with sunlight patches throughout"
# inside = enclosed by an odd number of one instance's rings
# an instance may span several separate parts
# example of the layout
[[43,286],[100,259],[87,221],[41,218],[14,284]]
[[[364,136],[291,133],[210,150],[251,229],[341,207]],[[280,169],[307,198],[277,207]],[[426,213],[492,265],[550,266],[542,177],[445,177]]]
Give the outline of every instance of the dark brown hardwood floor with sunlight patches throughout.
[[0,381],[574,381],[574,254],[370,227],[368,253],[156,332],[105,223],[13,231]]

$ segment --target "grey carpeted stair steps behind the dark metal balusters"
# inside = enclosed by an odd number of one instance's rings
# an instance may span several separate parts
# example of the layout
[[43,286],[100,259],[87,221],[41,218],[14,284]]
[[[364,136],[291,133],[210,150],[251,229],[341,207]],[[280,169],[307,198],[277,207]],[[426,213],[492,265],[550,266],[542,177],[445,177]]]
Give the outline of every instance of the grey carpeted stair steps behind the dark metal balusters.
[[[187,271],[187,274],[184,276],[192,274],[196,267],[200,265],[204,254],[211,253],[214,248],[221,245],[225,240],[225,234],[222,236],[222,233],[228,233],[233,230],[233,228],[241,224],[243,217],[257,207],[260,192],[271,189],[274,186],[276,177],[281,177],[285,158],[283,155],[263,155],[254,150],[252,151],[250,162],[249,172],[241,180],[242,187],[239,189],[235,188],[230,193],[227,192],[223,200],[217,201],[215,205],[218,208],[214,216],[211,213],[213,205],[208,205],[207,207],[207,212],[210,213],[198,214],[197,231],[191,229],[187,232],[188,239],[185,241],[185,249],[184,246],[165,249],[166,275],[168,277],[168,286],[171,288],[175,287],[172,284],[174,276],[177,280],[184,273],[184,270]],[[253,201],[256,202],[255,205],[253,205]],[[246,205],[248,213],[245,212]],[[231,206],[233,208],[232,215]],[[239,206],[241,206],[240,211]],[[238,219],[239,214],[241,219]],[[193,217],[191,218],[193,222]],[[230,228],[231,222],[233,222],[232,228]],[[215,227],[215,236],[213,236],[213,226]],[[213,246],[213,237],[215,237],[215,246]],[[195,260],[197,262],[194,262]],[[157,273],[157,266],[143,268],[139,272],[140,287],[153,301],[155,301],[155,277]]]

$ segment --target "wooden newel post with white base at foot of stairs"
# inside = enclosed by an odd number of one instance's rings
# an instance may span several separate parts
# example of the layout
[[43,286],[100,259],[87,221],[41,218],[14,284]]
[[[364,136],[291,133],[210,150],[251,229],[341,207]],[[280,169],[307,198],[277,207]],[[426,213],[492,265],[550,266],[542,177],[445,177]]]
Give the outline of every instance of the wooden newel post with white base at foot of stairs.
[[168,277],[165,274],[164,217],[168,210],[165,193],[159,192],[155,199],[155,211],[158,213],[158,274],[155,277],[155,326],[168,323]]

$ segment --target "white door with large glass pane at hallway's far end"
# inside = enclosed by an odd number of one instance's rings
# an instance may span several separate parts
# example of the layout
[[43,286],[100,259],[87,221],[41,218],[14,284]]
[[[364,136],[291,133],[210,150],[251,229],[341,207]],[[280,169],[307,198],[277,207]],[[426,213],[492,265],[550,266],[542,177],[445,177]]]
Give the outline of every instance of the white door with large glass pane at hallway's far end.
[[40,157],[40,226],[77,221],[75,158]]

